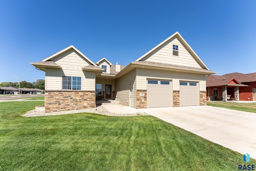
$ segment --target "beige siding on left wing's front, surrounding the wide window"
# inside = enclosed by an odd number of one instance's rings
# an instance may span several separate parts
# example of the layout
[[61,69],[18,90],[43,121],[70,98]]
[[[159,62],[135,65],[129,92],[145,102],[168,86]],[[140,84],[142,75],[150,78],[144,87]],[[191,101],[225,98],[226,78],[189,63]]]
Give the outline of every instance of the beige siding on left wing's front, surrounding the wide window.
[[82,67],[88,66],[89,63],[74,50],[68,50],[56,58],[53,58],[52,61],[62,68],[46,68],[46,89],[62,89],[62,76],[77,76],[82,78],[82,90],[95,90],[94,72],[82,71]]

